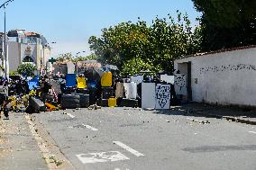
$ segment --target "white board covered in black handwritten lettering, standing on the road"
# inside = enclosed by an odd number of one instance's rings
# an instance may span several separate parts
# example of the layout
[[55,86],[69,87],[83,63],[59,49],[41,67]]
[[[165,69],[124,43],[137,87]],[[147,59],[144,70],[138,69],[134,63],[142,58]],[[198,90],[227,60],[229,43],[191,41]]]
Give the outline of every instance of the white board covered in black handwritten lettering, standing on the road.
[[156,86],[156,109],[169,109],[170,85]]

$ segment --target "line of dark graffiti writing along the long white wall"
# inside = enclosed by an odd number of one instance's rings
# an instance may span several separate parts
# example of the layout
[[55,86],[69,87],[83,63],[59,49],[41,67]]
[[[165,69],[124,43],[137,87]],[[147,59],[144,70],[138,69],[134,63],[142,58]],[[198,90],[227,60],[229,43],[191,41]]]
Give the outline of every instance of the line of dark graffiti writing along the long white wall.
[[238,71],[238,70],[253,70],[256,71],[256,66],[250,64],[227,65],[219,67],[201,67],[200,74],[207,72],[223,72],[223,71]]

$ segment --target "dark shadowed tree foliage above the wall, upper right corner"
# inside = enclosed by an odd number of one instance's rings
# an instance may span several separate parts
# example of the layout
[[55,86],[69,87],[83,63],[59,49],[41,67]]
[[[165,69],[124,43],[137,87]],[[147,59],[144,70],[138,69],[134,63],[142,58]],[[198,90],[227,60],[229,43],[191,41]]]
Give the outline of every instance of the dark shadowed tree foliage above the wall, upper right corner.
[[255,0],[192,1],[202,13],[204,50],[256,44]]

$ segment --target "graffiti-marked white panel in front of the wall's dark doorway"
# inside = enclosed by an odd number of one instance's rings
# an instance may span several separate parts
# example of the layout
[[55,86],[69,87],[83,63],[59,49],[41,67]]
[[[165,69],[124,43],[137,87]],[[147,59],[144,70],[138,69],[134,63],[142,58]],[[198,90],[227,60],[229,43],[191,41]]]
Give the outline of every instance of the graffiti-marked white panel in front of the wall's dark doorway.
[[186,76],[184,74],[174,76],[174,88],[176,94],[187,95]]

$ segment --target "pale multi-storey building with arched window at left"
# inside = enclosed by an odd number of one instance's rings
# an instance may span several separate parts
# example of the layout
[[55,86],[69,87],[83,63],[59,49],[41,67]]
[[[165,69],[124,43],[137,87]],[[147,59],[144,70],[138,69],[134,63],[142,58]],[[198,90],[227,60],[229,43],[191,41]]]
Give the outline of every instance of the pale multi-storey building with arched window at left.
[[15,71],[23,63],[32,63],[37,74],[45,74],[50,58],[47,40],[36,32],[13,30],[8,32],[9,71]]

